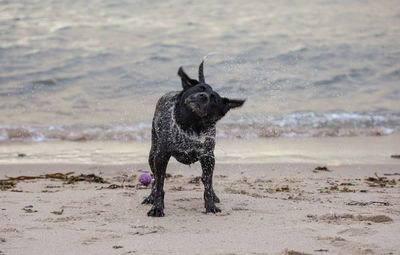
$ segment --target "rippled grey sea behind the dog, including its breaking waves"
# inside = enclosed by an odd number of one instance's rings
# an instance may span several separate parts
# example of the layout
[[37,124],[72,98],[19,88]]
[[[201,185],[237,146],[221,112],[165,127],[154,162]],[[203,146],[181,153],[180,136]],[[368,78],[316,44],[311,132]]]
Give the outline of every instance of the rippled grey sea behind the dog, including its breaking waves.
[[0,0],[0,143],[149,140],[209,53],[221,139],[400,132],[398,1]]

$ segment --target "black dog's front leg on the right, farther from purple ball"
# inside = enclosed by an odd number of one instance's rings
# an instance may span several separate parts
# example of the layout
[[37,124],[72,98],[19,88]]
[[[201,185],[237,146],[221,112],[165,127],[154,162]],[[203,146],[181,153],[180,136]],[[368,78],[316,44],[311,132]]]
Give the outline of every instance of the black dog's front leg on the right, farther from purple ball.
[[206,208],[206,213],[217,213],[221,212],[221,209],[215,206],[215,202],[219,202],[218,197],[214,193],[214,189],[212,186],[212,176],[215,166],[214,154],[203,156],[200,159],[201,168],[203,170],[203,174],[201,176],[201,180],[204,184],[204,207]]

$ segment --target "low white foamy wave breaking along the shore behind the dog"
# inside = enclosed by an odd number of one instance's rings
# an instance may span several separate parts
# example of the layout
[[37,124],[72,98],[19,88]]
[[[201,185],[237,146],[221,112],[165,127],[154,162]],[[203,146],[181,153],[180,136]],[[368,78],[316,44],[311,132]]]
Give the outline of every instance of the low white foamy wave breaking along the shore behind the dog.
[[[400,131],[400,114],[297,112],[285,116],[226,119],[221,139],[260,137],[382,136]],[[0,126],[0,142],[147,141],[151,124],[103,126]]]

